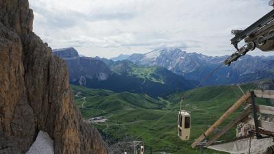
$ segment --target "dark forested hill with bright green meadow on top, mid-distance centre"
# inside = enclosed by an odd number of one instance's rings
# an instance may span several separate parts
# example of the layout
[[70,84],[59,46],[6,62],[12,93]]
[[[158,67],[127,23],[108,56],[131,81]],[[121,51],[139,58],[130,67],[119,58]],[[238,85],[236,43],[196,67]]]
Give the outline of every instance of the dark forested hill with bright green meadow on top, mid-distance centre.
[[159,66],[137,66],[127,60],[110,66],[114,73],[106,80],[86,78],[86,87],[108,89],[114,92],[148,94],[157,98],[176,90],[189,90],[197,86],[197,81],[184,79]]

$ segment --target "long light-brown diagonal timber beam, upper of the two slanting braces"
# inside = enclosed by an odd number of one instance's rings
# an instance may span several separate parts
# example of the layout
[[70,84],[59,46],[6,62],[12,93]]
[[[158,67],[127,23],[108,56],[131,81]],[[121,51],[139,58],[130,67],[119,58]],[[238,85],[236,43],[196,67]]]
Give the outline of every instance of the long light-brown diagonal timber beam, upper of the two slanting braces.
[[234,105],[232,105],[232,107],[229,108],[229,110],[227,110],[218,120],[216,120],[216,122],[213,125],[211,125],[208,128],[207,131],[202,133],[201,136],[199,136],[199,138],[197,138],[197,140],[195,140],[195,142],[191,144],[192,148],[195,148],[199,142],[204,140],[206,136],[212,133],[212,131],[214,131],[219,125],[221,125],[221,123],[223,123],[223,121],[227,119],[227,117],[230,116],[230,114],[232,114],[235,110],[237,110],[238,107],[240,107],[242,103],[245,103],[245,101],[247,101],[247,99],[249,99],[250,97],[251,97],[250,92],[243,94],[242,97],[240,97],[240,99],[238,99],[238,101],[236,101],[236,103],[234,103]]

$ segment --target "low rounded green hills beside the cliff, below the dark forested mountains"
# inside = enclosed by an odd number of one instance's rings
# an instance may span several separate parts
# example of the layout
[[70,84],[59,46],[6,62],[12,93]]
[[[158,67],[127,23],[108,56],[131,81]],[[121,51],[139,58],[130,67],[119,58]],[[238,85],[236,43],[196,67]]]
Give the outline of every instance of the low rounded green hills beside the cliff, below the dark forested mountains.
[[[76,104],[85,118],[119,110],[160,109],[163,106],[160,101],[152,99],[147,94],[115,93],[110,90],[89,89],[73,85],[71,88],[78,92],[75,96]],[[86,103],[84,103],[86,108],[82,108],[84,97],[86,98]]]

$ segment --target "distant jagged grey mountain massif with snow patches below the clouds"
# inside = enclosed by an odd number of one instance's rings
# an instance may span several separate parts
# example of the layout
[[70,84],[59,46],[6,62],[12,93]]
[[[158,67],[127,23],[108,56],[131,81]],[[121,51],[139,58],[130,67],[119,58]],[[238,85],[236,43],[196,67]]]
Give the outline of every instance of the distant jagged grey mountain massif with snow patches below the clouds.
[[[186,79],[200,81],[216,66],[221,64],[228,55],[208,56],[201,53],[187,53],[181,49],[158,49],[145,54],[133,54],[128,60],[142,66],[164,66]],[[274,64],[266,66],[274,60],[274,56],[264,57],[245,55],[231,66],[222,66],[205,82],[206,85],[234,84],[255,79],[273,78],[271,71]],[[273,62],[274,63],[274,62]],[[262,67],[266,66],[262,70]]]

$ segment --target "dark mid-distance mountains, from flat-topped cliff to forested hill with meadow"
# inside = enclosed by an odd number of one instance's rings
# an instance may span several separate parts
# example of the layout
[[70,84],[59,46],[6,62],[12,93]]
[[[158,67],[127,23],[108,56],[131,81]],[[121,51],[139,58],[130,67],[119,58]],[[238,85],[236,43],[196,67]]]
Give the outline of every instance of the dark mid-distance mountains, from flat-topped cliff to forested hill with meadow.
[[73,48],[55,49],[53,54],[66,61],[70,83],[87,88],[160,97],[199,84],[162,66],[138,66],[129,60],[114,62],[99,57],[79,57]]

